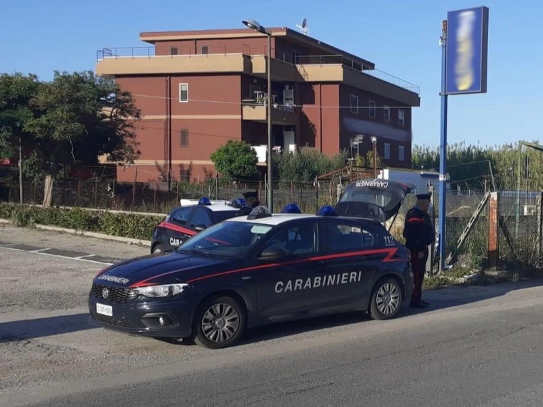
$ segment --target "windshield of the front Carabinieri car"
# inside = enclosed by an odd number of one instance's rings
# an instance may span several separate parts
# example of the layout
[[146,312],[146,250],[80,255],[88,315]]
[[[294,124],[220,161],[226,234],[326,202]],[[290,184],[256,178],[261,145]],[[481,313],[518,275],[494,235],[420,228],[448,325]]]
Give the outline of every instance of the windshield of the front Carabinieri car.
[[223,257],[245,256],[272,226],[252,222],[225,221],[198,233],[178,251]]

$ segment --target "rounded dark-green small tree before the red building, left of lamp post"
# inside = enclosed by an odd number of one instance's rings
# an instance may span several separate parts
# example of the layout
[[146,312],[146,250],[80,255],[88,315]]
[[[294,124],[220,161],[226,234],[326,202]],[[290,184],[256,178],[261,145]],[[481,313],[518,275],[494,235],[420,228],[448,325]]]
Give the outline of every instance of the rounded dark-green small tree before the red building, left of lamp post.
[[250,144],[229,140],[211,154],[217,171],[231,179],[250,180],[258,175],[258,156]]

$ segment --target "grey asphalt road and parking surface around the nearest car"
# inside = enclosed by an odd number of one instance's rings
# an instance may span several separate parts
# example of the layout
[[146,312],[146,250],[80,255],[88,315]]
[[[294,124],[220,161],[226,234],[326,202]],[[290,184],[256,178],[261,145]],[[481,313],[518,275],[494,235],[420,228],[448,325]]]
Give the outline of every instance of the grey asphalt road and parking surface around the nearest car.
[[6,245],[104,258],[147,248],[2,226],[0,241],[2,407],[542,404],[541,281],[428,291],[430,309],[393,321],[283,323],[210,351],[87,325],[103,265]]

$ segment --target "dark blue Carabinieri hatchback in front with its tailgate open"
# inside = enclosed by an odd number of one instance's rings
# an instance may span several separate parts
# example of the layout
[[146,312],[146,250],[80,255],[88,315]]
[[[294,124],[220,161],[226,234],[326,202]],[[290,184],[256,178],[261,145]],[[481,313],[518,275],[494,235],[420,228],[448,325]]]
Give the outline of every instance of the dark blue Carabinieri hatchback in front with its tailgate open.
[[390,181],[353,183],[336,208],[350,217],[332,207],[317,215],[257,207],[171,253],[112,265],[93,279],[90,320],[216,349],[235,344],[245,328],[277,321],[352,310],[395,317],[411,296],[413,274],[409,251],[381,222],[395,215],[408,189]]

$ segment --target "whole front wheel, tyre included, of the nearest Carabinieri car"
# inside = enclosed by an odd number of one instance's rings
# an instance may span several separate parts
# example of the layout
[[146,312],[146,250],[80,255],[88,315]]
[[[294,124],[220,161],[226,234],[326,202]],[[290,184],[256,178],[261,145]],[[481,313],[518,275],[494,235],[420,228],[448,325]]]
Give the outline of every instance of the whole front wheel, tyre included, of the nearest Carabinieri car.
[[221,349],[235,344],[245,330],[245,310],[232,297],[213,297],[198,308],[194,319],[194,342]]

